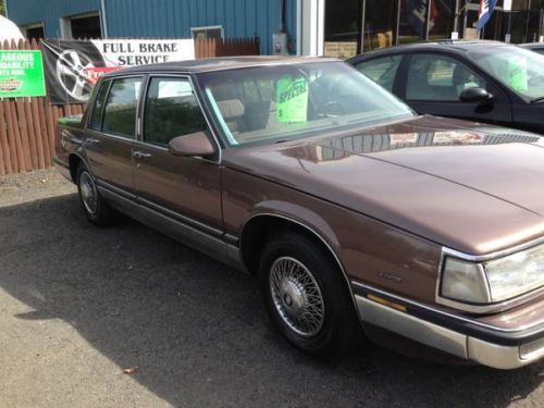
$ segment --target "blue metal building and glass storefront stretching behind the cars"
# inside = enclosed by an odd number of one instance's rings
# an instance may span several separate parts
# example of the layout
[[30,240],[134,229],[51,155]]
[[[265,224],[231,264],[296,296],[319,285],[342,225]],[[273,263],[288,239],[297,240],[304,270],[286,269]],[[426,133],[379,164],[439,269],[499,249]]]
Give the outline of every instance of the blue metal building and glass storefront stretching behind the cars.
[[[262,53],[350,57],[443,38],[541,39],[544,0],[498,0],[482,32],[480,0],[5,0],[8,16],[36,38],[252,37]],[[429,18],[426,18],[429,10]]]

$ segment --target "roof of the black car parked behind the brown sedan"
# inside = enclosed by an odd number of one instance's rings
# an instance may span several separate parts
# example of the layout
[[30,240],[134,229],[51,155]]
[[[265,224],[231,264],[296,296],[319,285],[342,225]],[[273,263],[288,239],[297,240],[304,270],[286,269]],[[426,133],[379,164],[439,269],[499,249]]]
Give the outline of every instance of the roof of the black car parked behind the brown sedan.
[[[366,52],[361,55],[354,57],[349,61],[364,60],[367,58],[373,58],[375,55],[383,55],[385,53],[403,53],[409,51],[444,51],[449,50],[452,52],[465,53],[473,51],[481,48],[490,47],[508,47],[512,46],[510,44],[502,41],[492,40],[454,40],[454,39],[443,39],[437,41],[429,42],[412,42],[403,46],[394,46],[385,49],[379,49],[370,52]],[[348,62],[349,62],[348,61]]]

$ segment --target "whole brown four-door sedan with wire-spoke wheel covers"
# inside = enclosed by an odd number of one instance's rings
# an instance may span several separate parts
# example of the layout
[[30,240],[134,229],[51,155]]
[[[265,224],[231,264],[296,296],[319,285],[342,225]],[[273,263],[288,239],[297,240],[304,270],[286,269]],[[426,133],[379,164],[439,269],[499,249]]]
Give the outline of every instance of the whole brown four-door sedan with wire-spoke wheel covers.
[[300,349],[345,350],[362,323],[500,369],[544,355],[537,135],[417,116],[325,59],[127,69],[88,107],[55,158],[87,218],[256,274]]

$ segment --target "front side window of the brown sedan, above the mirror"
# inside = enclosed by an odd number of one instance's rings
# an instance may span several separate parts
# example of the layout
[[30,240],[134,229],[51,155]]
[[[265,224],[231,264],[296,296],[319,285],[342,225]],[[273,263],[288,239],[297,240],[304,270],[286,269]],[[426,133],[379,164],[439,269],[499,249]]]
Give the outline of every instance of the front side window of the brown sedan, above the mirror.
[[144,110],[144,141],[164,147],[174,137],[206,128],[188,79],[151,79]]

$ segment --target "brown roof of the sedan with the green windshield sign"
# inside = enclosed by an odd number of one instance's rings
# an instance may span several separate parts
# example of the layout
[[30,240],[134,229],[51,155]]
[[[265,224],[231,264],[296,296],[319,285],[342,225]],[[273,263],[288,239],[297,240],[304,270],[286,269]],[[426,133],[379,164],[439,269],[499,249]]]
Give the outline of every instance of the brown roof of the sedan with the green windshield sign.
[[138,65],[125,67],[103,75],[103,77],[113,77],[126,74],[147,74],[147,73],[200,73],[210,71],[236,70],[252,66],[286,65],[309,62],[339,62],[335,58],[318,57],[271,57],[271,55],[251,55],[251,57],[220,57],[205,58],[198,60],[173,61],[151,65]]

